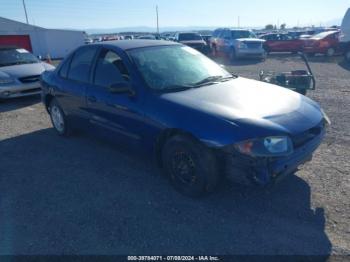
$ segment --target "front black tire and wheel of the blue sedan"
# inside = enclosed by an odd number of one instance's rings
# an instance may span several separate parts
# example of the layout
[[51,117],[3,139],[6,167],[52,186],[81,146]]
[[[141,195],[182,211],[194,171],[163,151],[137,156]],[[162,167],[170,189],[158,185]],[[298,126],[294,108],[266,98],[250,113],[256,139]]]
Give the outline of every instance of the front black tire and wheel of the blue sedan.
[[186,196],[203,196],[219,183],[214,153],[187,136],[171,137],[163,147],[162,161],[172,186]]

